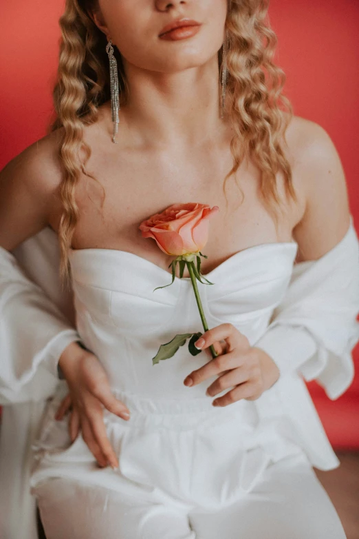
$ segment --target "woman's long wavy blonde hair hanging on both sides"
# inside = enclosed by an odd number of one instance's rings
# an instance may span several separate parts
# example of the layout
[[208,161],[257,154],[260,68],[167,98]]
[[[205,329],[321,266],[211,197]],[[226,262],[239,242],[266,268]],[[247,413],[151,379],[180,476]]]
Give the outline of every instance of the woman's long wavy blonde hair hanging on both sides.
[[[66,0],[65,12],[59,19],[62,38],[53,92],[56,119],[50,123],[48,132],[63,128],[59,145],[63,214],[58,231],[62,285],[65,281],[69,283],[71,274],[68,248],[79,211],[76,183],[81,173],[96,180],[85,170],[91,148],[83,141],[83,127],[98,120],[98,108],[111,98],[107,37],[89,17],[89,12],[97,7],[97,0]],[[278,172],[283,173],[286,196],[296,201],[291,166],[282,147],[283,142],[287,145],[285,130],[294,113],[290,101],[281,93],[285,74],[272,61],[277,38],[265,20],[268,7],[269,0],[228,0],[228,83],[224,112],[235,134],[230,143],[233,165],[225,176],[224,187],[243,159],[251,156],[261,170],[263,203],[277,225],[277,211],[283,207],[276,183]],[[122,106],[129,93],[117,48],[114,54]],[[219,50],[219,73],[221,61]],[[85,161],[79,159],[80,150],[85,151]]]

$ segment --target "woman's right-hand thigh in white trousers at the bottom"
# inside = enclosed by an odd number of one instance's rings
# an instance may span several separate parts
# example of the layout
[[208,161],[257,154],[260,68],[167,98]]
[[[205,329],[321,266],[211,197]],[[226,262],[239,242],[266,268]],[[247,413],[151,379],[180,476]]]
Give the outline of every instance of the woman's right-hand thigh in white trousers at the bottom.
[[307,458],[268,467],[250,493],[219,513],[193,512],[196,539],[345,539],[336,509]]

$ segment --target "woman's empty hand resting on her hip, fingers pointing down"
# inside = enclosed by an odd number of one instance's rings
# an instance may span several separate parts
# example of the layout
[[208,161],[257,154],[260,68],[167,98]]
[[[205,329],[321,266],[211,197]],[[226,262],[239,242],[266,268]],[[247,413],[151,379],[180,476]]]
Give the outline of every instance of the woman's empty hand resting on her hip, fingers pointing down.
[[67,381],[69,394],[63,399],[55,418],[62,419],[72,405],[69,418],[72,441],[81,430],[98,464],[118,468],[118,459],[107,438],[103,407],[124,420],[129,420],[129,409],[112,394],[105,369],[89,350],[71,343],[61,354],[58,365]]

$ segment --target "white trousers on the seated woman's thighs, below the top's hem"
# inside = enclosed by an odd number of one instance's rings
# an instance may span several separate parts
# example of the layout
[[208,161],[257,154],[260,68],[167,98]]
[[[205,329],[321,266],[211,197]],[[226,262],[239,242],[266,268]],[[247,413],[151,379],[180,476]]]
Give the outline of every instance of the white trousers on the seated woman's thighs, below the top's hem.
[[201,511],[71,478],[34,489],[47,539],[345,539],[304,453],[271,462],[234,503]]

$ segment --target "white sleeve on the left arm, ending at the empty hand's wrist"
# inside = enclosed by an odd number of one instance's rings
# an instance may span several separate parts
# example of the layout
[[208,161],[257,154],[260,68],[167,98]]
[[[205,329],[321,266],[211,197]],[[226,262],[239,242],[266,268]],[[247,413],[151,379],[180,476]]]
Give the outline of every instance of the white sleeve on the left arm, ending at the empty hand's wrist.
[[75,327],[0,247],[0,404],[51,396],[58,359],[74,340]]

